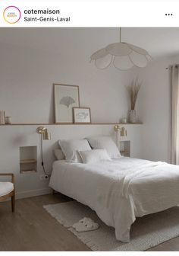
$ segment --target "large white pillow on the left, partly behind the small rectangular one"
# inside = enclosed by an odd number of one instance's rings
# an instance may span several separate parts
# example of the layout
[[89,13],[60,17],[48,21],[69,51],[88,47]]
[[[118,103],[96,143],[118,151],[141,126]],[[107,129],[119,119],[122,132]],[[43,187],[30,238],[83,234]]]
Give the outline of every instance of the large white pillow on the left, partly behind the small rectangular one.
[[77,151],[92,150],[86,139],[59,140],[58,144],[68,162],[82,162]]

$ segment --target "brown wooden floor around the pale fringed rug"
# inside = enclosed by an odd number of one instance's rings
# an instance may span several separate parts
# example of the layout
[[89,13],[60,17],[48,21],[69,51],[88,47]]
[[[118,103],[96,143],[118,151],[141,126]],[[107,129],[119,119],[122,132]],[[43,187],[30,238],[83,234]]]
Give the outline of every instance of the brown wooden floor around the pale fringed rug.
[[[43,205],[69,200],[61,194],[31,197],[0,204],[0,251],[90,251],[68,229],[59,224]],[[149,251],[179,251],[179,238]]]

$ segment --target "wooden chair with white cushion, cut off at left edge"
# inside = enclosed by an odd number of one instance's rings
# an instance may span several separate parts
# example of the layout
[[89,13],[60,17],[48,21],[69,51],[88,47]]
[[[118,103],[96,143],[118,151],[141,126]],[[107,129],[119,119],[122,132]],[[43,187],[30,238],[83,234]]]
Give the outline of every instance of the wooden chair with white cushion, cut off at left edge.
[[[14,210],[15,210],[14,174],[10,174],[10,173],[3,174],[3,173],[0,173],[0,177],[1,176],[11,176],[11,182],[5,182],[5,181],[0,182],[0,202],[5,201],[9,197],[11,197],[11,209],[12,209],[12,212],[14,212]],[[3,187],[1,189],[2,185],[3,185]]]

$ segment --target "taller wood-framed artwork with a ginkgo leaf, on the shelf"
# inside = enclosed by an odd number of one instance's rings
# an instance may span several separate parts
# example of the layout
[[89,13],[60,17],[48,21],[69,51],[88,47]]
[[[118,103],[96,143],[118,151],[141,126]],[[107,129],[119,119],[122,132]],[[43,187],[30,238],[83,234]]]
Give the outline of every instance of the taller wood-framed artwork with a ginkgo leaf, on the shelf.
[[79,86],[54,84],[55,123],[73,123],[73,107],[80,107]]

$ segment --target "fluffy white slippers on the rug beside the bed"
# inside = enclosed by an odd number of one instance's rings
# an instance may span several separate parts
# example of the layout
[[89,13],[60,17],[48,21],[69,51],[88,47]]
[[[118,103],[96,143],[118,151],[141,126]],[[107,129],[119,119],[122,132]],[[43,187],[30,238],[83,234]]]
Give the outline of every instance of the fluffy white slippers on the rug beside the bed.
[[80,219],[79,222],[75,223],[73,228],[76,229],[77,232],[84,232],[98,229],[99,224],[94,222],[93,219],[84,217],[83,219]]

